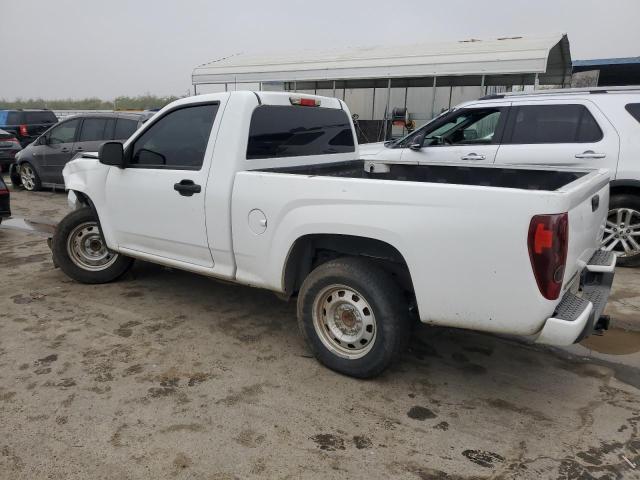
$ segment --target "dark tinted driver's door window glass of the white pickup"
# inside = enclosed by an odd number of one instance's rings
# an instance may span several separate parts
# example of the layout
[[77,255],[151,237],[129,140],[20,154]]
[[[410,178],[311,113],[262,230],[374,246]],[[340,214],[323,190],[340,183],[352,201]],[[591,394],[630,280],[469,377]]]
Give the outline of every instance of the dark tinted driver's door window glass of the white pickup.
[[135,141],[129,166],[199,170],[217,111],[216,103],[169,112]]

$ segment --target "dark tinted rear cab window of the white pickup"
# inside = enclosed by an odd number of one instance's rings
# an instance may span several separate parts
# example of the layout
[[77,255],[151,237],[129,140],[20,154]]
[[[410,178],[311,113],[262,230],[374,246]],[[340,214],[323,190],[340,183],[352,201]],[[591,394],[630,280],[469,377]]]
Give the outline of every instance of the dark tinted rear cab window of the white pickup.
[[344,110],[262,105],[253,111],[247,160],[354,152]]

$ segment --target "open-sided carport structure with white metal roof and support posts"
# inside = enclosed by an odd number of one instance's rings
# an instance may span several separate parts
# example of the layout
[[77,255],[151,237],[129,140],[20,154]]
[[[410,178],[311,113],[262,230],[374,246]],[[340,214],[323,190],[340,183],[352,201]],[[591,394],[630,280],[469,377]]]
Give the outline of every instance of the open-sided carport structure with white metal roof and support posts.
[[[393,109],[418,125],[443,109],[495,91],[571,82],[565,34],[353,48],[277,55],[237,54],[193,70],[196,93],[284,90],[342,98],[360,124],[383,137]],[[383,128],[379,128],[380,122]],[[377,135],[379,139],[380,134]]]

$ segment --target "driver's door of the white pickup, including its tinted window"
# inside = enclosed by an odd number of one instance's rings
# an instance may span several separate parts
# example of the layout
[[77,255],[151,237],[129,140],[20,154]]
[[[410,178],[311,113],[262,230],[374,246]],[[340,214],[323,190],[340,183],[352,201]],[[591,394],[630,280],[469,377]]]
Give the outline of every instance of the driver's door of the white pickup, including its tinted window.
[[127,145],[126,168],[110,168],[106,203],[123,253],[213,267],[205,193],[218,107],[207,102],[163,114]]

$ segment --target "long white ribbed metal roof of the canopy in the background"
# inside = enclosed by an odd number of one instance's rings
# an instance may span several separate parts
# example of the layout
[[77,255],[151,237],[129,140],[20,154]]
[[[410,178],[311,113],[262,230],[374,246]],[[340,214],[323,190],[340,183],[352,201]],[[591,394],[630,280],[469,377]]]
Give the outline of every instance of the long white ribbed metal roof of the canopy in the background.
[[539,74],[541,83],[563,83],[571,75],[567,36],[468,39],[273,56],[238,54],[196,67],[192,79],[199,85],[518,74]]

